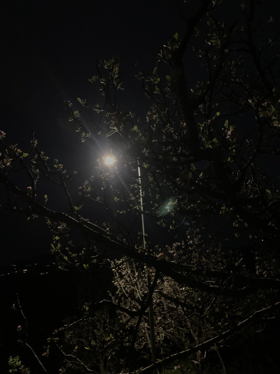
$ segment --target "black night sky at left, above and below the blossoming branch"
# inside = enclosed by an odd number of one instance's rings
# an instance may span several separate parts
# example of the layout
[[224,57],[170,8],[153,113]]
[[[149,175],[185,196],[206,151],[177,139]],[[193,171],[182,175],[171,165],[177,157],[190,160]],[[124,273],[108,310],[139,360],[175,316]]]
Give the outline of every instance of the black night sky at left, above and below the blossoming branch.
[[[98,95],[87,81],[95,74],[96,59],[118,56],[129,92],[125,105],[145,113],[147,104],[134,75],[140,68],[152,70],[153,56],[181,28],[172,0],[4,0],[0,129],[7,134],[6,143],[28,152],[35,132],[40,149],[50,157],[72,169],[88,164],[63,101]],[[14,214],[0,219],[0,267],[49,251],[42,220],[27,222]]]

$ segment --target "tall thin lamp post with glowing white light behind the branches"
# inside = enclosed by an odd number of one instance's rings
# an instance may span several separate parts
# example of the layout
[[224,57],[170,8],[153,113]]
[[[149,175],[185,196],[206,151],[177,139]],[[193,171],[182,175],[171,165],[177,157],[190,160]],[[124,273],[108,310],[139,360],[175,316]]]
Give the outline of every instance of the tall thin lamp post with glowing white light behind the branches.
[[[105,157],[105,164],[108,166],[112,166],[115,163],[115,157],[108,156]],[[145,224],[144,224],[144,209],[143,209],[143,192],[142,192],[142,184],[141,184],[141,169],[140,169],[140,163],[138,160],[138,178],[139,178],[139,190],[140,190],[140,208],[141,208],[141,220],[142,220],[142,236],[143,236],[143,248],[145,251],[145,254],[147,254],[146,250],[146,240],[145,240]],[[145,266],[146,269],[146,285],[148,291],[151,287],[151,277],[149,274],[149,270],[147,268],[147,265]],[[155,324],[154,324],[154,318],[153,318],[153,300],[151,300],[149,307],[148,307],[148,313],[149,313],[149,327],[150,327],[150,351],[151,351],[151,358],[153,362],[156,362],[156,339],[155,339]],[[154,371],[154,374],[157,373],[157,370]]]

